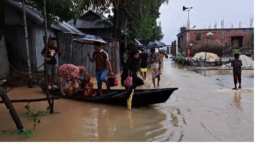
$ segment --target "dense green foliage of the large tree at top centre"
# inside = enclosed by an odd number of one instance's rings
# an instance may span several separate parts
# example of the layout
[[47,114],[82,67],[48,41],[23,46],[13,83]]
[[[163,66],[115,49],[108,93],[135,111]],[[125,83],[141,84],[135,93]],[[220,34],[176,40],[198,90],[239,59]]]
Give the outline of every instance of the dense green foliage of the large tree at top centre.
[[[163,38],[162,30],[157,26],[160,17],[159,8],[168,0],[81,0],[80,10],[91,9],[100,14],[110,13],[108,20],[114,24],[113,37],[120,39],[121,30],[128,35],[128,40],[140,39],[143,43]],[[109,8],[112,7],[110,10]]]

